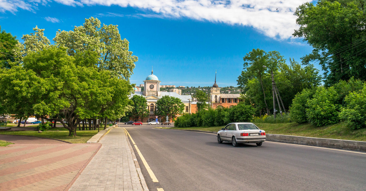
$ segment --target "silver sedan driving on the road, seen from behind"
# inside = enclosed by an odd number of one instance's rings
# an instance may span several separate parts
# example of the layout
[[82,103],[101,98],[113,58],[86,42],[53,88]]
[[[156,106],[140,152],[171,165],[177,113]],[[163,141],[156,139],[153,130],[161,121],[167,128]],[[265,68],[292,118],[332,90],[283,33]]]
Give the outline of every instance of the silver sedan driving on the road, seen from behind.
[[259,129],[253,123],[229,123],[217,132],[217,142],[231,142],[237,147],[238,143],[257,143],[261,146],[266,140],[266,132]]

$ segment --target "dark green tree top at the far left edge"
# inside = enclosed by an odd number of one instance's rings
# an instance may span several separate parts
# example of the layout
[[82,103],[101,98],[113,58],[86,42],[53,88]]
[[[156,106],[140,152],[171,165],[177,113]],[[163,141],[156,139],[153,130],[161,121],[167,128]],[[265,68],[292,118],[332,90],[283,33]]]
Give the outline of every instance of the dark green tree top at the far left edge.
[[9,62],[15,62],[14,51],[18,43],[16,36],[1,30],[0,26],[0,68],[10,68]]

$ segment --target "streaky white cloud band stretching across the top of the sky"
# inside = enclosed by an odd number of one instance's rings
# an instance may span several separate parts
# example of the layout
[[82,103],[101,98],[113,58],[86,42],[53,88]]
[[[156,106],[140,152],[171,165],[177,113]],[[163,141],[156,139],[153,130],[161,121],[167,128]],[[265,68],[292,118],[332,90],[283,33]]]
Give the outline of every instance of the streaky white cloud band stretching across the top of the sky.
[[[0,0],[0,11],[16,12],[18,8],[32,11],[34,2],[48,0]],[[118,5],[146,10],[145,17],[187,17],[229,25],[253,27],[268,37],[285,40],[292,37],[296,25],[296,7],[309,0],[54,0],[69,6]],[[153,12],[153,14],[151,13]],[[104,15],[104,14],[103,14]],[[156,16],[154,16],[156,15]],[[100,15],[102,16],[102,15]],[[123,16],[107,13],[104,16]]]

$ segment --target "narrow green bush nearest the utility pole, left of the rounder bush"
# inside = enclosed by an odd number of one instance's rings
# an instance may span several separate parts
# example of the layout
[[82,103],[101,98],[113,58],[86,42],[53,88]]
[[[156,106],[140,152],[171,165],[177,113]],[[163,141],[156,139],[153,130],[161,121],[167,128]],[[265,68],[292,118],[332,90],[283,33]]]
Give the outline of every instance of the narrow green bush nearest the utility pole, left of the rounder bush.
[[315,90],[315,88],[304,89],[303,91],[295,95],[289,111],[292,121],[295,121],[299,124],[307,122],[306,109],[308,107],[306,103],[307,100],[313,98]]

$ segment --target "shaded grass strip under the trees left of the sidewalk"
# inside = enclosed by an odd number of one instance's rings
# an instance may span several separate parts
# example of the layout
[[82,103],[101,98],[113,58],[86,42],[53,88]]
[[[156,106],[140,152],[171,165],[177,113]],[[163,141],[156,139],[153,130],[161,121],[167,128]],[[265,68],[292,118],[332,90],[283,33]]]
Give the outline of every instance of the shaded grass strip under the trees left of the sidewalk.
[[[103,128],[100,128],[103,130]],[[38,131],[2,131],[0,135],[29,135],[35,137],[46,137],[52,139],[64,140],[70,143],[86,143],[92,136],[98,133],[98,130],[76,131],[75,137],[69,137],[68,130],[62,127],[50,128],[48,131],[38,133]]]

